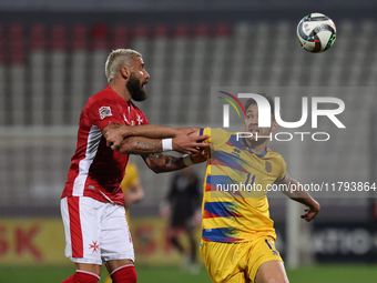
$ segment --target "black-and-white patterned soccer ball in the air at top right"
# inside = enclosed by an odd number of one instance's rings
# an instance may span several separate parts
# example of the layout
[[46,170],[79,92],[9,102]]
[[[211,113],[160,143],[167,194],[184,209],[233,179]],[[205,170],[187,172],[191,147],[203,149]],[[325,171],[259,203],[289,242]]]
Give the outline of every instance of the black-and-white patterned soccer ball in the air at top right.
[[329,49],[336,39],[336,27],[323,13],[309,13],[297,26],[298,42],[306,51],[318,53]]

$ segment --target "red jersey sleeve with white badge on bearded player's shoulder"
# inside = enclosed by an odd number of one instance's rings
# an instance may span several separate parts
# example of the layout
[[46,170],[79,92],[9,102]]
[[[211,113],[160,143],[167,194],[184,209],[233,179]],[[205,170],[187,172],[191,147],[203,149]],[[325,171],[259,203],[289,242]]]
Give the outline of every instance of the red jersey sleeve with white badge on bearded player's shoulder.
[[125,124],[121,108],[116,101],[101,99],[89,108],[89,117],[93,124],[102,131],[109,123]]

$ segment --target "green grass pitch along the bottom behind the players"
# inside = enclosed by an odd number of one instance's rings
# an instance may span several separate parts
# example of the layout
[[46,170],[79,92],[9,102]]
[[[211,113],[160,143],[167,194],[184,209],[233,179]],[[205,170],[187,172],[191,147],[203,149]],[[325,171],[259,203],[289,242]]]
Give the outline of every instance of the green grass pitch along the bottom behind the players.
[[[0,266],[0,283],[59,283],[73,274],[73,267],[7,267]],[[287,271],[291,283],[375,283],[377,265],[317,265]],[[137,283],[211,283],[202,267],[197,275],[182,272],[179,267],[137,267]],[[105,272],[101,283],[104,282]]]

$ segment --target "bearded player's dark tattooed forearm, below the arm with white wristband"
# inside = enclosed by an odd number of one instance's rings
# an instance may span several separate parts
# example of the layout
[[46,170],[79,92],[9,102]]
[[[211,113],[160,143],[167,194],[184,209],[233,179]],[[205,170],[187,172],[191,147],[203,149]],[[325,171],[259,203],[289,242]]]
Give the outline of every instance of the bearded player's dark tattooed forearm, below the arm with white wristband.
[[164,173],[181,170],[191,164],[202,163],[207,160],[207,152],[205,150],[201,150],[183,158],[170,156],[162,153],[152,153],[142,155],[142,158],[145,164],[154,173]]

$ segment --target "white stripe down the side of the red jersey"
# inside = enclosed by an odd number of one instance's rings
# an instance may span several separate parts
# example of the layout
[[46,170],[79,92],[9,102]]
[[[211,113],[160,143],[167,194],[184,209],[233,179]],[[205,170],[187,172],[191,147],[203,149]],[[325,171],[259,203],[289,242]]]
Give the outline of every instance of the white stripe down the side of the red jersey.
[[92,125],[89,131],[85,158],[79,162],[79,175],[74,179],[73,196],[82,196],[84,194],[85,182],[90,165],[93,163],[96,151],[100,145],[102,132],[96,125]]

